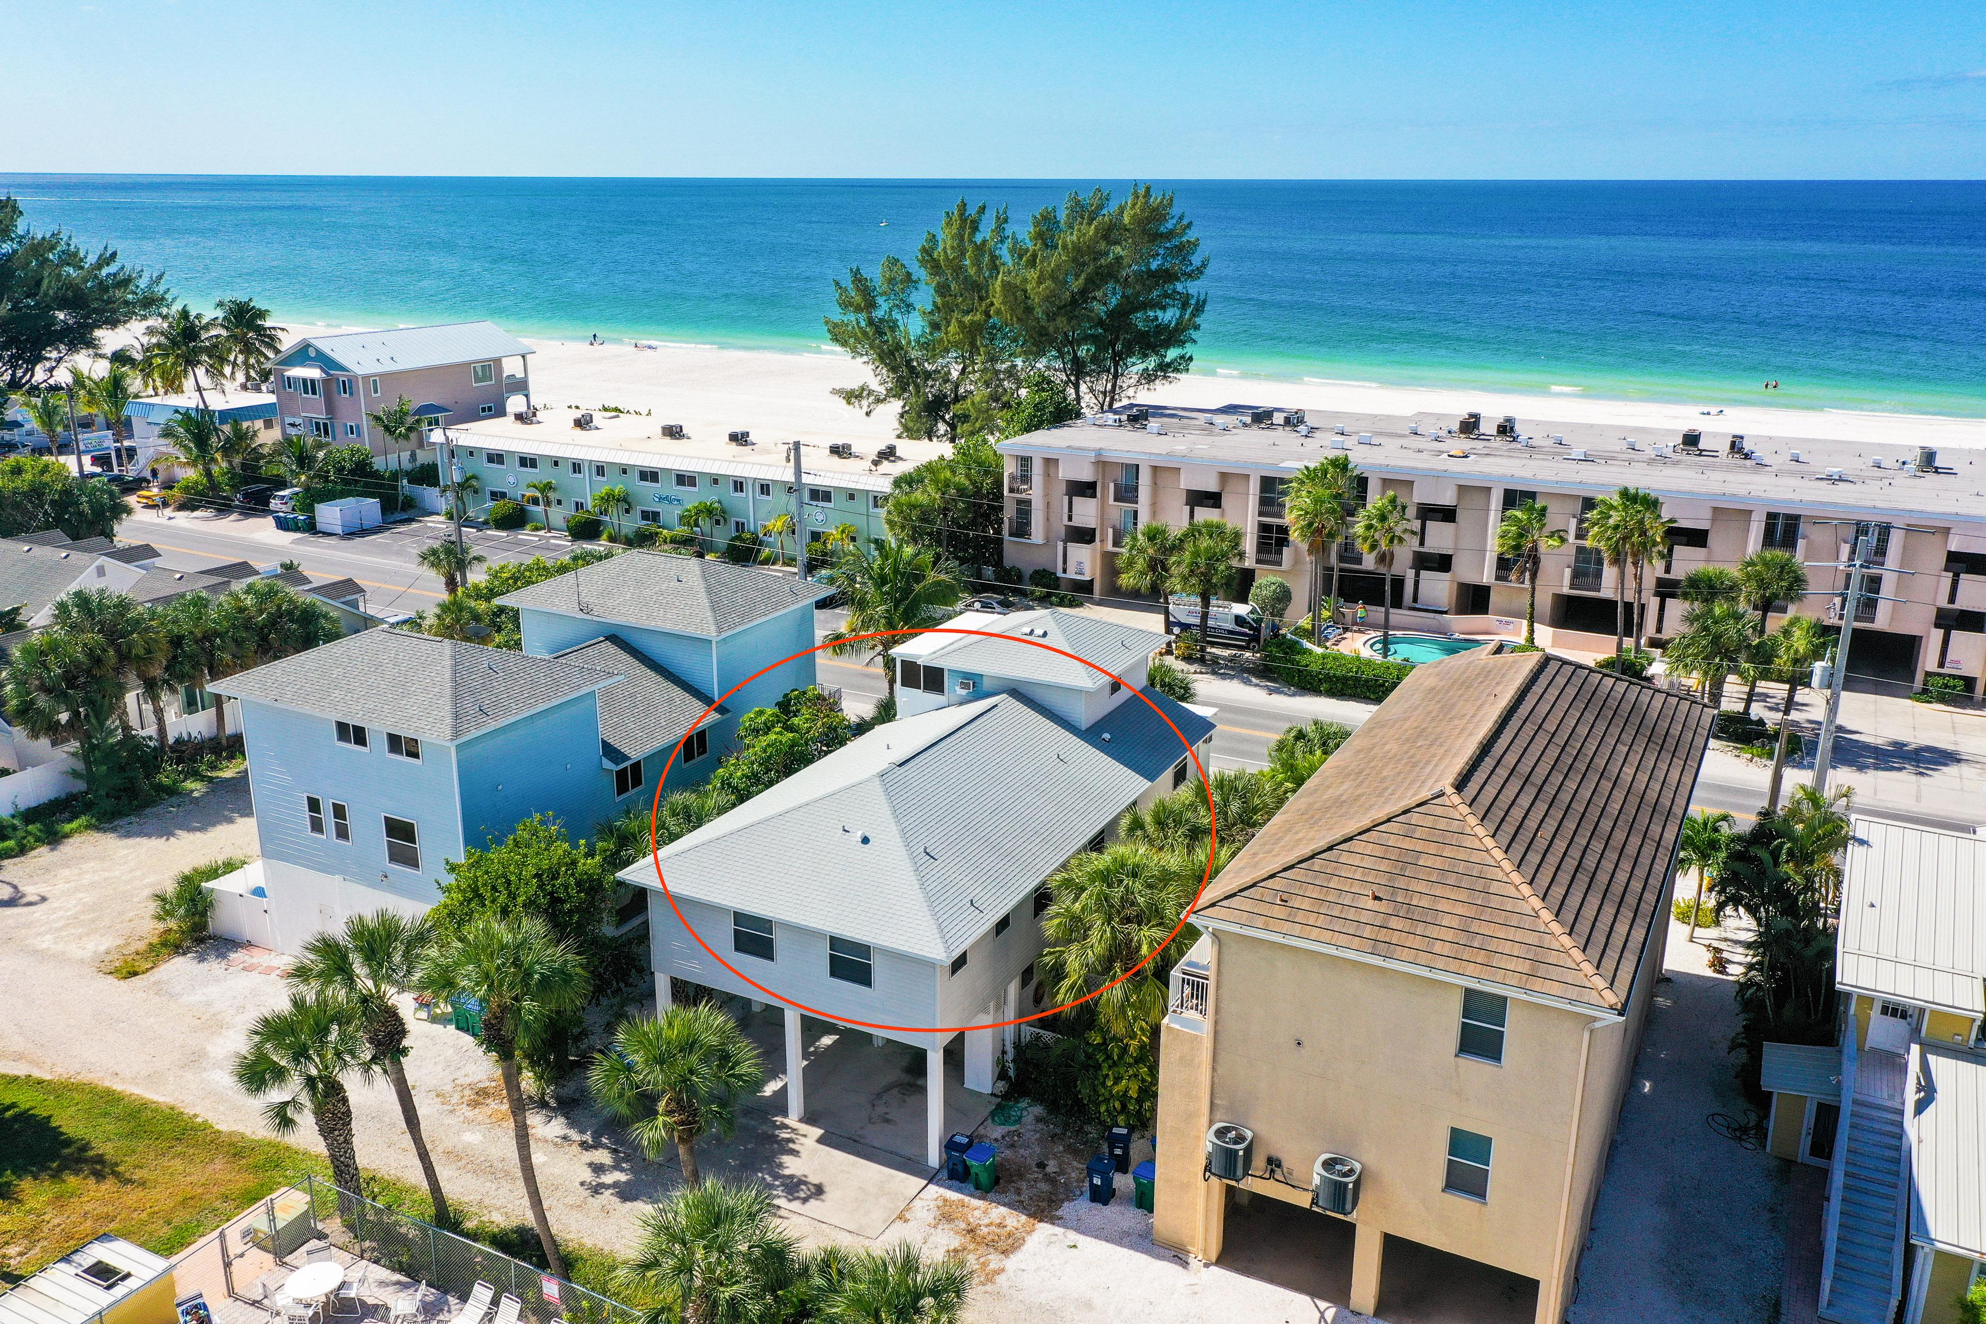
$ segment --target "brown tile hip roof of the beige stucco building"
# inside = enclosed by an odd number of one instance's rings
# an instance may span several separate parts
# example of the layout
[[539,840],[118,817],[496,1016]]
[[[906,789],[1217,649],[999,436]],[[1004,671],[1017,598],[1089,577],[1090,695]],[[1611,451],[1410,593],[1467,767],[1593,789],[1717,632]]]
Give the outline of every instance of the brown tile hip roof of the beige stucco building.
[[1545,653],[1416,667],[1200,915],[1621,1010],[1710,717]]

